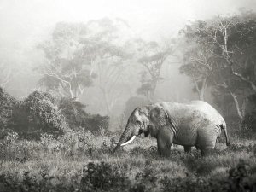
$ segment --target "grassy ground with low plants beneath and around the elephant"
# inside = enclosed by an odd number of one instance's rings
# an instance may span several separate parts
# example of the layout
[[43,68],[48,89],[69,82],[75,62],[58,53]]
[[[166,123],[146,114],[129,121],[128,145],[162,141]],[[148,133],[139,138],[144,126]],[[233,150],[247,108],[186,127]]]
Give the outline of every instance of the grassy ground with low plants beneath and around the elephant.
[[218,142],[214,154],[157,154],[154,138],[137,138],[111,154],[110,137],[70,132],[41,140],[1,141],[0,191],[255,191],[256,144]]

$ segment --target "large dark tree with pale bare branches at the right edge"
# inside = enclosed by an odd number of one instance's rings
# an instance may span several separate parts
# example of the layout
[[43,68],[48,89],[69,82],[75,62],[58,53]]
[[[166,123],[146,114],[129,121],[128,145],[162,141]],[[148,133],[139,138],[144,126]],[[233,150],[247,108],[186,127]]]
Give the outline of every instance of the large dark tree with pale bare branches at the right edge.
[[[207,58],[200,63],[200,51],[195,56],[197,64],[206,66],[209,73],[201,73],[196,67],[192,56],[185,68],[200,72],[201,77],[211,79],[214,89],[229,94],[236,106],[236,113],[242,119],[245,114],[247,97],[255,93],[255,15],[239,15],[236,17],[218,17],[207,22],[196,21],[187,26],[186,38],[193,39],[196,46],[203,50]],[[206,56],[207,55],[207,56]],[[195,61],[195,60],[194,60]]]

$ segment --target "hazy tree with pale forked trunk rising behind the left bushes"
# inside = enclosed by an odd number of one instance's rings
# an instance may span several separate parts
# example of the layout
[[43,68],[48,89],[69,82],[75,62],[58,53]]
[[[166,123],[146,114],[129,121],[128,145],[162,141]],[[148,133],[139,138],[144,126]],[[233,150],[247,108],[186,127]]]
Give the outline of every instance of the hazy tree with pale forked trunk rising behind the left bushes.
[[46,60],[39,70],[43,77],[38,84],[61,96],[78,98],[92,84],[89,53],[84,52],[82,39],[88,28],[84,24],[57,23],[51,39],[38,45]]

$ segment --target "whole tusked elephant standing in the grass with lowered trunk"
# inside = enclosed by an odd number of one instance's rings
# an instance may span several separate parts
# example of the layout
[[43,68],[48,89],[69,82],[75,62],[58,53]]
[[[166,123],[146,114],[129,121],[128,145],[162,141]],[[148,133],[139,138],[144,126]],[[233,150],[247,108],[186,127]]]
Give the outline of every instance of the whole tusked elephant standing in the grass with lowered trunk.
[[230,143],[225,121],[207,102],[157,102],[136,108],[131,113],[119,142],[114,143],[116,147],[113,152],[131,143],[136,136],[144,133],[148,137],[150,133],[157,139],[161,155],[170,155],[172,143],[183,145],[186,152],[195,146],[202,155],[206,155],[215,148],[221,130],[224,130],[228,146]]

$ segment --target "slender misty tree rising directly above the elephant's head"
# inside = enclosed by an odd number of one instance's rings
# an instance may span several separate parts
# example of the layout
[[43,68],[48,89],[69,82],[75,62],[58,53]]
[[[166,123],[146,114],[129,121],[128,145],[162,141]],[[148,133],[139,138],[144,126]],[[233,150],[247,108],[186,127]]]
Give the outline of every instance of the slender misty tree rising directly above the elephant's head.
[[137,39],[135,43],[137,44],[137,62],[144,67],[140,72],[142,84],[137,89],[137,93],[146,96],[148,103],[152,103],[156,86],[160,80],[163,80],[160,77],[160,70],[166,58],[173,53],[172,45],[160,45],[143,39]]

